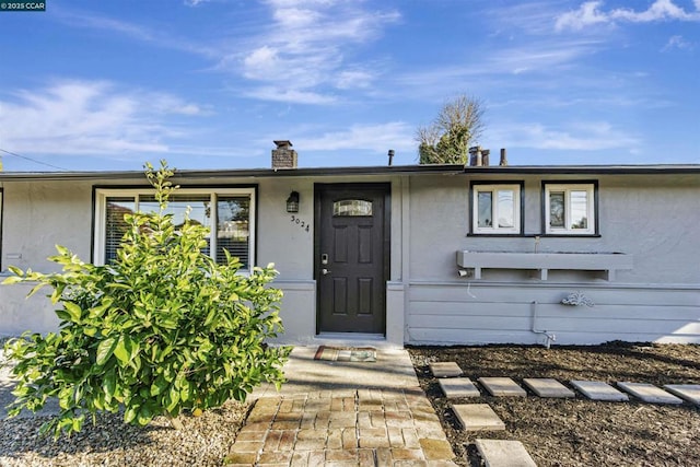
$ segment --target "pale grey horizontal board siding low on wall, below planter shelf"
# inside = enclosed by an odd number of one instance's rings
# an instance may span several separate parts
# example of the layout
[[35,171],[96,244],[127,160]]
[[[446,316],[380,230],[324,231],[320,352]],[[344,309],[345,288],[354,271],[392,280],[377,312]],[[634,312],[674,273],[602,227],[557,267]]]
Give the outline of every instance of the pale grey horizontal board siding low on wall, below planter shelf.
[[[594,306],[563,305],[582,292]],[[700,343],[691,288],[521,283],[411,283],[406,341],[413,345]],[[540,332],[535,332],[538,330]]]

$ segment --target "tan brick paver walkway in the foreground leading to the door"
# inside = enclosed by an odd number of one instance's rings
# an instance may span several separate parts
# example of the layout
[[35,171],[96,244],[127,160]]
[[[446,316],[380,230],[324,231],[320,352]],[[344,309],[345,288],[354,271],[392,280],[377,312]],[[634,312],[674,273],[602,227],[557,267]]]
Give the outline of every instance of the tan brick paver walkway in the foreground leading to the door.
[[259,398],[228,466],[456,466],[420,388]]

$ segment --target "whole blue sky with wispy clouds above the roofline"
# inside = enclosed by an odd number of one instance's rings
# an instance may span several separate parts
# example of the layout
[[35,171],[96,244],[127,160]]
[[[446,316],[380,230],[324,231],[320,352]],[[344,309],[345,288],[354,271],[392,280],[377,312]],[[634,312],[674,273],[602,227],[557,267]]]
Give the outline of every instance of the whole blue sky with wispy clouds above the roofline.
[[413,164],[458,94],[511,165],[700,163],[700,0],[46,0],[0,43],[8,172]]

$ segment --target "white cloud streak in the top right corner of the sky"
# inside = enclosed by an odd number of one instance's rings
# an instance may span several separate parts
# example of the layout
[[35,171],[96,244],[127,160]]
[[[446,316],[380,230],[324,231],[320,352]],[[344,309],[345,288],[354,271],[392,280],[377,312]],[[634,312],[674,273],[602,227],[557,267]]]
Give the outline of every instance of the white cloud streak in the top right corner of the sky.
[[618,8],[603,11],[603,1],[586,1],[578,10],[563,13],[557,17],[557,31],[580,31],[596,24],[615,24],[627,21],[631,23],[651,23],[657,21],[700,21],[700,1],[695,1],[695,11],[686,11],[673,0],[655,0],[646,10],[634,11]]

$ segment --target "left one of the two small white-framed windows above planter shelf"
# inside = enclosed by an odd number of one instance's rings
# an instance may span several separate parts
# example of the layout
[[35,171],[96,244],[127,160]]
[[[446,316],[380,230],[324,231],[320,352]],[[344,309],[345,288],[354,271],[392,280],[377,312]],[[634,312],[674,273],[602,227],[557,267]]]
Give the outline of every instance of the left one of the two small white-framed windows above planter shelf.
[[522,184],[471,185],[472,234],[521,234]]

